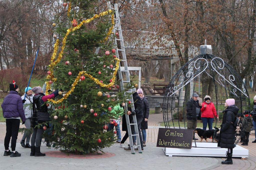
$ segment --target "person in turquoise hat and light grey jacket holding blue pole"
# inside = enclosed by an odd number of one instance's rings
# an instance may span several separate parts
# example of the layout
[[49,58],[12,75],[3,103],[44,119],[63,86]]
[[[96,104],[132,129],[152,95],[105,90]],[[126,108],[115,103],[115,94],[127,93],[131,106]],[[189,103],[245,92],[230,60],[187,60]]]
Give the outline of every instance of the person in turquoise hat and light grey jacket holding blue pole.
[[[26,87],[25,88],[25,93],[27,93],[26,98],[25,98],[25,103],[23,105],[24,112],[25,112],[25,117],[26,117],[26,122],[25,126],[27,129],[30,129],[30,124],[31,124],[31,117],[33,114],[32,111],[32,106],[33,106],[33,91],[31,90],[31,87]],[[21,97],[22,100],[24,99],[25,94]],[[30,148],[29,141],[30,141],[31,133],[29,132],[24,132],[23,137],[20,141],[20,144],[24,148]],[[26,145],[25,145],[25,140],[26,140]]]

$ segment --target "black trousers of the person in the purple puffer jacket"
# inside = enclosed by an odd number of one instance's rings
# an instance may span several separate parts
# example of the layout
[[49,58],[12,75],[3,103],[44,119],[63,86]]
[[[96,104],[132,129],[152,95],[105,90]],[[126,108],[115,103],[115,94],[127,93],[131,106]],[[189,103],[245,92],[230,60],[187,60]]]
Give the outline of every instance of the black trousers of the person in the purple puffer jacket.
[[12,137],[11,146],[12,151],[15,151],[16,141],[19,133],[19,119],[6,119],[6,134],[4,138],[4,148],[9,149],[9,143]]

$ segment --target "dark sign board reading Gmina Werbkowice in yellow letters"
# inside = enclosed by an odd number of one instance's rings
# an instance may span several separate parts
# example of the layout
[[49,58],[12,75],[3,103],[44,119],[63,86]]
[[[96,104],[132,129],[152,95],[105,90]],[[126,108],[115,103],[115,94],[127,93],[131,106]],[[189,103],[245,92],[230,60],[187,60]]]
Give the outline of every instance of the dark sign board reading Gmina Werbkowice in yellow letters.
[[192,129],[159,128],[156,147],[191,149]]

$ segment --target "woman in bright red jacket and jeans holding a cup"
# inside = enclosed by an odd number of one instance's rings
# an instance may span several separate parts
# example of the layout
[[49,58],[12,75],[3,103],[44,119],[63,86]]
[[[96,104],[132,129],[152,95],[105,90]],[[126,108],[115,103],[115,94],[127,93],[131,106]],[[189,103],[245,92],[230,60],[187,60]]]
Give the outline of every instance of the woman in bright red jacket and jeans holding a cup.
[[201,119],[203,122],[203,129],[206,130],[207,123],[209,129],[212,129],[212,123],[214,121],[214,116],[219,119],[219,116],[217,115],[216,109],[214,104],[210,101],[210,96],[205,96],[204,102],[202,103],[201,108]]

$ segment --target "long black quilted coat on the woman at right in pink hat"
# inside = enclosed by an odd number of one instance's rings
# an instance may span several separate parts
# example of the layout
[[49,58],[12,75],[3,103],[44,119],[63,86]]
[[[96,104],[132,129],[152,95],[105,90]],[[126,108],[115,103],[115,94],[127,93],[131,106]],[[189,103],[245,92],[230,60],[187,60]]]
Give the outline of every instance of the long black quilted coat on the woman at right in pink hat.
[[221,148],[234,148],[235,147],[235,133],[236,129],[233,127],[232,122],[235,121],[238,114],[238,108],[235,105],[229,106],[223,110],[223,120],[220,128],[220,138],[218,147]]

